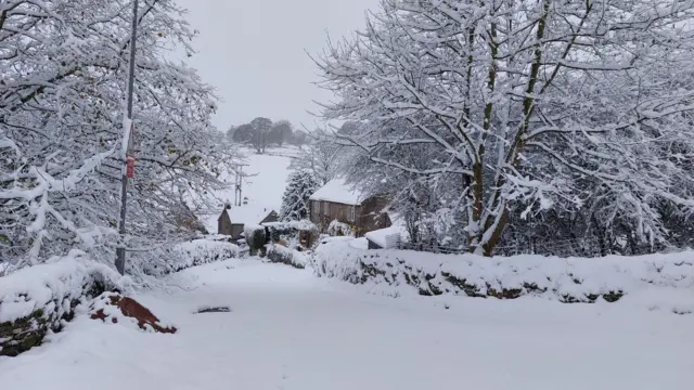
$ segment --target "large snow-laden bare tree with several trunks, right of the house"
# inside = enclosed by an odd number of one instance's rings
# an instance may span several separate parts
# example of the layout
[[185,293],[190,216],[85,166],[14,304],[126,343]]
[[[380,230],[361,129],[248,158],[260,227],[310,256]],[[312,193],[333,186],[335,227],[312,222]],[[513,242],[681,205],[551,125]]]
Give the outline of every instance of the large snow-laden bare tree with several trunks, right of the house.
[[[317,63],[373,164],[452,185],[471,251],[514,208],[602,204],[646,242],[694,208],[694,3],[384,0]],[[408,126],[402,126],[407,122]],[[417,153],[414,160],[402,159]]]

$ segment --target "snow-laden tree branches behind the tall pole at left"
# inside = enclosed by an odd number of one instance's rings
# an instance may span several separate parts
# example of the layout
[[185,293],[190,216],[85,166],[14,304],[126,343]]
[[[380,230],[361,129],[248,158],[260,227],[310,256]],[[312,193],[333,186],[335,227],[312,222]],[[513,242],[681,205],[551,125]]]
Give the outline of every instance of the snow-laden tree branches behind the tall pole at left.
[[[0,257],[36,263],[72,248],[113,262],[130,50],[128,0],[11,0],[0,4]],[[126,247],[133,266],[192,234],[181,203],[222,188],[233,151],[210,125],[210,87],[165,60],[194,34],[172,0],[141,2],[134,155]],[[209,205],[207,205],[209,206]],[[145,255],[146,253],[146,255]],[[137,270],[136,270],[137,271]]]

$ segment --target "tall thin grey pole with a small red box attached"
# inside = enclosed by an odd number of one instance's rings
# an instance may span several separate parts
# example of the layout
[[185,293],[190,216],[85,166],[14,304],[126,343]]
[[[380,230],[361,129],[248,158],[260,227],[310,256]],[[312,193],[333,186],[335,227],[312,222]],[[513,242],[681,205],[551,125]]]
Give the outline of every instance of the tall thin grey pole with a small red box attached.
[[[137,40],[138,40],[138,9],[139,9],[139,0],[134,0],[132,2],[132,28],[130,36],[130,72],[128,75],[128,121],[130,122],[130,128],[127,129],[124,127],[123,136],[124,144],[127,142],[126,155],[124,167],[123,167],[123,182],[120,188],[120,222],[118,223],[118,234],[120,235],[120,242],[118,243],[118,247],[116,248],[116,270],[121,275],[126,273],[126,203],[128,200],[128,177],[132,176],[134,171],[129,171],[133,167],[129,167],[129,165],[134,164],[134,159],[131,157],[132,153],[132,100],[134,93],[134,58],[136,58],[136,49],[137,49]],[[124,121],[126,122],[126,121]]]

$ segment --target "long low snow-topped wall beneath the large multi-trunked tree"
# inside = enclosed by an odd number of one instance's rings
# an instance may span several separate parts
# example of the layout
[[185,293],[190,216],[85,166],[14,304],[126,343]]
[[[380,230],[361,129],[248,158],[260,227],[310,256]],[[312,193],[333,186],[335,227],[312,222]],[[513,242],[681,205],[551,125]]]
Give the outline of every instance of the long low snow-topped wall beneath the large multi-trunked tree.
[[685,288],[694,294],[694,252],[601,259],[540,256],[483,258],[404,250],[359,250],[348,240],[326,240],[311,257],[319,276],[352,284],[403,289],[424,296],[444,294],[515,299],[544,296],[561,302],[615,302],[652,287]]

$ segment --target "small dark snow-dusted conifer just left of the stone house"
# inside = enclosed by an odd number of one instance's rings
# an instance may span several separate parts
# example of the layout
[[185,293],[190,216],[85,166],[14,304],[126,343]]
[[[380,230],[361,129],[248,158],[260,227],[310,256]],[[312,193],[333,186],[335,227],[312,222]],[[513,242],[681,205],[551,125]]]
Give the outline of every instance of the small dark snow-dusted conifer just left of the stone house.
[[287,179],[286,190],[282,196],[280,220],[299,221],[309,217],[309,200],[318,190],[319,183],[308,171],[295,171]]

